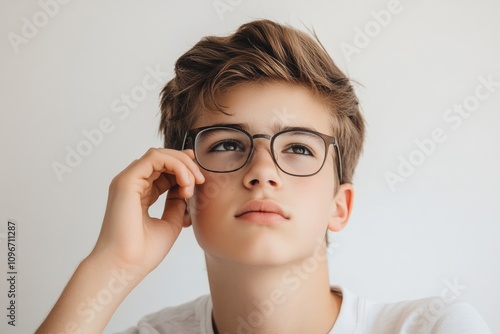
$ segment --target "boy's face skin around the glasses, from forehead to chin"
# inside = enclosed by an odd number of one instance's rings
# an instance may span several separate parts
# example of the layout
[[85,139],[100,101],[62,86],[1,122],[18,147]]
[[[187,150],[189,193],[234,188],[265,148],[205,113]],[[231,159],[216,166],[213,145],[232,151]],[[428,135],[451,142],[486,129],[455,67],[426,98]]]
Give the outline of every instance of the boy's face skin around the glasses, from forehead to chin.
[[[206,112],[193,128],[240,124],[251,135],[272,136],[284,127],[307,127],[333,136],[329,110],[304,87],[243,84],[219,102],[229,115]],[[200,246],[207,258],[252,265],[279,265],[311,256],[328,228],[342,228],[350,210],[350,185],[347,210],[341,203],[346,201],[345,191],[335,195],[332,145],[317,174],[297,177],[275,165],[269,139],[255,138],[254,143],[253,156],[243,168],[223,174],[202,169],[206,181],[189,200]],[[339,215],[346,217],[339,220]]]

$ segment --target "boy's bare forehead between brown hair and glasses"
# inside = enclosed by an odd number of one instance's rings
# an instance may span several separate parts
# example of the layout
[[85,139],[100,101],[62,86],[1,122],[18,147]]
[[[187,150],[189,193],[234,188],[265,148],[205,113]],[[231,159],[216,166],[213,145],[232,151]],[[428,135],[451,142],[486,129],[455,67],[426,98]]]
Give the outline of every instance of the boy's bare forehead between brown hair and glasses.
[[250,132],[273,133],[283,126],[301,126],[332,134],[330,110],[307,88],[287,83],[245,83],[223,94],[224,113],[202,113],[193,128],[213,124],[246,124]]

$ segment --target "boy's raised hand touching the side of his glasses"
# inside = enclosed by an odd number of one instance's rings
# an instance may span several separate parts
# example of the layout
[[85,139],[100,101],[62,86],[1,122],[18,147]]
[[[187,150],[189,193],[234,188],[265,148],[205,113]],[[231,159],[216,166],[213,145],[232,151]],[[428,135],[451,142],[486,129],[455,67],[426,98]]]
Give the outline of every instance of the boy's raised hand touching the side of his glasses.
[[[119,267],[139,268],[144,276],[160,264],[183,226],[189,226],[185,199],[205,181],[192,150],[150,149],[110,184],[99,239],[90,256],[104,256]],[[161,218],[149,207],[168,190]]]

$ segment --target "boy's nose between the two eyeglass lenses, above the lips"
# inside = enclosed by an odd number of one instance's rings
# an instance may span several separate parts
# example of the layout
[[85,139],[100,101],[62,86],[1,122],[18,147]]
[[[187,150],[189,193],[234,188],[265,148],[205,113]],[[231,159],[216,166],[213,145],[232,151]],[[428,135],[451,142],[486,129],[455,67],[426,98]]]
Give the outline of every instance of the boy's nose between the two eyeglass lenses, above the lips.
[[254,135],[254,139],[267,140],[254,141],[254,151],[246,167],[243,184],[251,189],[255,187],[279,188],[282,185],[281,171],[272,157],[268,135]]

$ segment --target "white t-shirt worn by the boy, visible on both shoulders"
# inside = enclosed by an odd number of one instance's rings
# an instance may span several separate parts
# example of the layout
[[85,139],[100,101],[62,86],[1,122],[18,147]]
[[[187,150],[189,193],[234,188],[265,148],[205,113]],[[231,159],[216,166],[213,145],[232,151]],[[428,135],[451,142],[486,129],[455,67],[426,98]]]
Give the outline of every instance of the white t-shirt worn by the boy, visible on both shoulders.
[[[360,298],[345,288],[332,286],[342,295],[339,316],[329,334],[489,334],[485,321],[467,303],[445,296],[398,303],[380,303]],[[240,323],[241,333],[252,333]],[[246,328],[245,328],[246,327]],[[209,295],[164,308],[142,318],[137,327],[122,334],[193,333],[214,334],[212,300]]]

